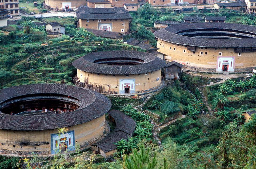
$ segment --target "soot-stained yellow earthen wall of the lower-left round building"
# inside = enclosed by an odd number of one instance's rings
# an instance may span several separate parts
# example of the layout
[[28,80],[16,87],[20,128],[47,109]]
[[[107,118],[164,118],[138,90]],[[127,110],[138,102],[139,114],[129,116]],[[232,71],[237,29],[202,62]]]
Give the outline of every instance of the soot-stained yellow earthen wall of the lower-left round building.
[[[86,123],[67,127],[67,129],[68,131],[74,130],[75,143],[84,144],[100,138],[103,135],[104,127],[105,115]],[[58,133],[57,129],[40,131],[0,130],[0,152],[29,154],[29,152],[37,151],[38,154],[50,154],[51,134],[55,133]]]

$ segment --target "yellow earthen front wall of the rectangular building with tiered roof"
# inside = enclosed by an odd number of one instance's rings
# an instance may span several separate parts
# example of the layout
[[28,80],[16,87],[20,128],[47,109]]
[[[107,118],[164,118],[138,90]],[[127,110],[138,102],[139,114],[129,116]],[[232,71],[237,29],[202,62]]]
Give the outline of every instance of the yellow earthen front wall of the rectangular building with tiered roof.
[[[98,22],[98,19],[79,19],[79,26],[84,28],[90,29],[97,29],[99,30],[99,24],[111,24],[111,31],[113,32],[120,32],[122,34],[129,33],[129,19],[101,19],[101,22]],[[123,25],[122,25],[123,24]],[[87,25],[87,26],[86,26]],[[123,29],[123,32],[122,32]]]

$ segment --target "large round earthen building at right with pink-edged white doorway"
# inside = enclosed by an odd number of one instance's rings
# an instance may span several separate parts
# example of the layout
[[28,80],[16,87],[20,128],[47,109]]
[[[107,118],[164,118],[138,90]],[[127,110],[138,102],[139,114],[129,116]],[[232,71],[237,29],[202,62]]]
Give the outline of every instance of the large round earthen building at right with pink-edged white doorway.
[[154,32],[165,59],[206,72],[251,71],[256,66],[256,27],[184,23]]

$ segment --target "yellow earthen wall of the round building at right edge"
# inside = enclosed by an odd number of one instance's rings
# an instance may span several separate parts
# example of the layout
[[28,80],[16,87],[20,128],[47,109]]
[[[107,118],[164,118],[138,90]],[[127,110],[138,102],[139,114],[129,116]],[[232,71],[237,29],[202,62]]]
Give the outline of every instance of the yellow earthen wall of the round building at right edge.
[[[172,44],[171,42],[161,39],[157,41],[157,48],[159,48],[158,52],[166,55],[166,60],[177,61],[186,66],[217,69],[217,61],[221,57],[234,58],[234,68],[246,68],[256,65],[256,52],[241,52],[241,56],[238,56],[239,53],[235,53],[234,48],[203,47],[203,49],[201,49],[201,47],[196,47],[196,51],[193,53],[193,51],[187,50],[185,45]],[[220,52],[222,56],[219,56]]]

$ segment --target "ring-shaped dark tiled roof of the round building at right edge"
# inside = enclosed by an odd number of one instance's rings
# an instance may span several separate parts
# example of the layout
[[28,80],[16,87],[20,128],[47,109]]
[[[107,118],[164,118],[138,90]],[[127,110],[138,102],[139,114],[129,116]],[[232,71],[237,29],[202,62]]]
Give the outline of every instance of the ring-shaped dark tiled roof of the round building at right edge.
[[250,25],[233,24],[233,23],[217,23],[217,22],[206,22],[206,23],[184,23],[171,25],[169,27],[163,28],[161,30],[155,31],[154,36],[158,39],[165,40],[171,43],[189,45],[189,46],[199,46],[199,47],[255,47],[255,38],[243,38],[243,39],[206,39],[206,38],[196,38],[177,35],[176,33],[181,30],[188,29],[205,29],[205,28],[219,28],[219,29],[232,29],[252,32],[256,34],[256,27]]

